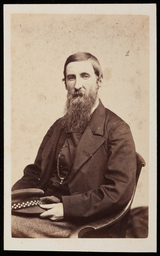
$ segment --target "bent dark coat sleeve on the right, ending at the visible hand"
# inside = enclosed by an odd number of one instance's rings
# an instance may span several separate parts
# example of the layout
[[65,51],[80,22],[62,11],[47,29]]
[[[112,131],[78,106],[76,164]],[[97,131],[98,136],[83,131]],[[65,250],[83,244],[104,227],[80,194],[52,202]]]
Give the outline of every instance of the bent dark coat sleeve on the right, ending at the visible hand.
[[118,212],[132,197],[135,174],[136,155],[130,127],[119,122],[108,138],[106,184],[84,194],[62,197],[64,216],[88,219]]

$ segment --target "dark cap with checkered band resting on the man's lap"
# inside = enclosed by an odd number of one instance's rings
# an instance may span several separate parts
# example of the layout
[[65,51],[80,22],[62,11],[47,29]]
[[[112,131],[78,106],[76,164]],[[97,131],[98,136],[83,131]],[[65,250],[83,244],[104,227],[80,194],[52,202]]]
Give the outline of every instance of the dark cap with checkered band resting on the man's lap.
[[19,213],[44,213],[45,210],[39,205],[44,191],[40,189],[24,189],[12,191],[12,212]]

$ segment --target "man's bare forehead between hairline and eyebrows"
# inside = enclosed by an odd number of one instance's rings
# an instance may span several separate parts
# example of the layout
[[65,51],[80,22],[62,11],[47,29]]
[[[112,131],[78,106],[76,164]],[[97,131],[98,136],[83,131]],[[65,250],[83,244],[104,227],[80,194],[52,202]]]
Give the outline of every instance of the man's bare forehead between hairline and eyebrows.
[[94,69],[91,61],[88,59],[87,61],[82,62],[70,62],[66,67],[66,74],[69,73],[94,73]]

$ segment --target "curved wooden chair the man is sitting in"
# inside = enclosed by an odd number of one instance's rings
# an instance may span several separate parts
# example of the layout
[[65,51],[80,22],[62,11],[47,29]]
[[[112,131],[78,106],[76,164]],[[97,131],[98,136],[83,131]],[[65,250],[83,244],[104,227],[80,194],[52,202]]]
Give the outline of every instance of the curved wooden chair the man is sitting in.
[[89,224],[82,225],[76,228],[70,234],[70,238],[125,238],[127,221],[130,214],[130,208],[137,187],[138,179],[142,167],[146,165],[142,156],[136,153],[137,157],[137,172],[135,178],[135,188],[132,194],[132,198],[127,206],[118,214],[111,216],[110,218],[101,219]]

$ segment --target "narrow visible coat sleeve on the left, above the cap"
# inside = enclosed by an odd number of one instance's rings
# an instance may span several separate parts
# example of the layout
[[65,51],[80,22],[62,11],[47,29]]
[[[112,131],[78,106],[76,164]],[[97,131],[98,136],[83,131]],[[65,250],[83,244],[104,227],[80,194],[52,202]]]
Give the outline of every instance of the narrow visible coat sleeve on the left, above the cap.
[[57,122],[55,122],[50,129],[47,131],[45,137],[43,138],[43,141],[41,143],[41,146],[38,149],[38,153],[35,159],[34,164],[29,164],[24,169],[24,175],[21,179],[18,180],[13,186],[12,191],[14,190],[20,190],[20,189],[30,189],[34,188],[39,181],[39,177],[41,176],[41,162],[42,162],[42,152],[49,141],[49,139],[52,136],[54,126]]

